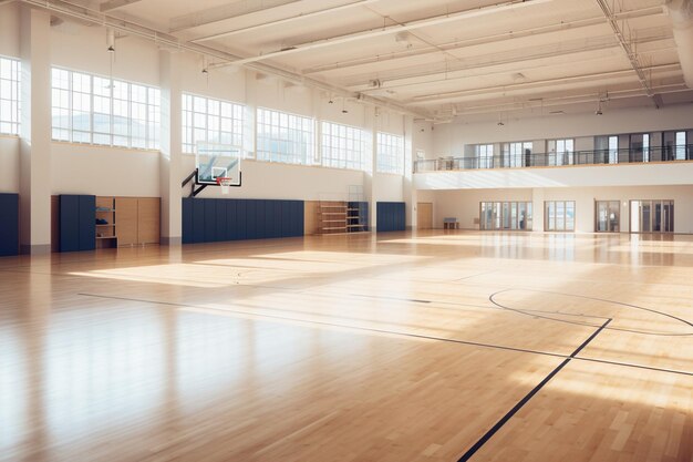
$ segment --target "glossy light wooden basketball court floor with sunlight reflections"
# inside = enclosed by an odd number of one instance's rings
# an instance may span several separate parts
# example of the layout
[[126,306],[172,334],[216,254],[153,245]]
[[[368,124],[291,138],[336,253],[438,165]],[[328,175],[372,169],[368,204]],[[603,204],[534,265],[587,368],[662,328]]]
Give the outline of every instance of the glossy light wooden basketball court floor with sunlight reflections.
[[0,461],[691,462],[692,321],[683,236],[0,258]]

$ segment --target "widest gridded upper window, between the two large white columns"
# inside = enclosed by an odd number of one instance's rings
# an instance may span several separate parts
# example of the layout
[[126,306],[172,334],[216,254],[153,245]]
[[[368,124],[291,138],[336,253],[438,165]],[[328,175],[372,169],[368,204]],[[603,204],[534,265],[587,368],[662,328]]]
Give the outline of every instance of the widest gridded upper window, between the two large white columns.
[[53,140],[158,150],[161,99],[152,86],[53,68]]

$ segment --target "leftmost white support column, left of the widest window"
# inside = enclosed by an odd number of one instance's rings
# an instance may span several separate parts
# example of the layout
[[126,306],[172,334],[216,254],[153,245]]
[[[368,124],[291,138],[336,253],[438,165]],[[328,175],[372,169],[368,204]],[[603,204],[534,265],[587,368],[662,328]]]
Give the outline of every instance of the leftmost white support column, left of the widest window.
[[21,141],[19,161],[22,254],[51,251],[51,16],[20,13]]

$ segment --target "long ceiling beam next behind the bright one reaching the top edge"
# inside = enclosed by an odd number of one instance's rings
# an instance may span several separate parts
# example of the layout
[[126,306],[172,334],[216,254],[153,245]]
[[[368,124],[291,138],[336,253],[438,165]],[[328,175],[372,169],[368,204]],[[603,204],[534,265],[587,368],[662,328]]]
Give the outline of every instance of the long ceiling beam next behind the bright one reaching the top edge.
[[[651,7],[651,8],[643,8],[639,10],[630,10],[630,11],[625,11],[625,12],[617,14],[617,18],[621,20],[621,19],[631,19],[631,18],[644,18],[644,17],[654,16],[654,14],[663,14],[662,8]],[[576,20],[576,21],[570,21],[570,22],[559,22],[555,24],[541,25],[538,28],[513,30],[513,31],[497,33],[493,35],[478,37],[478,38],[467,39],[467,40],[457,40],[455,42],[443,43],[437,47],[424,47],[424,48],[417,48],[414,50],[405,50],[401,52],[389,53],[386,55],[356,58],[356,59],[352,59],[348,61],[335,62],[332,64],[318,65],[314,68],[303,69],[302,73],[306,75],[306,74],[313,74],[313,73],[319,73],[319,72],[338,71],[338,70],[344,70],[344,69],[360,66],[364,64],[383,63],[383,62],[389,62],[389,61],[403,60],[403,59],[412,58],[412,57],[421,57],[425,54],[439,53],[441,50],[454,51],[454,50],[459,50],[466,47],[483,45],[483,44],[501,42],[506,40],[523,39],[527,37],[539,37],[542,34],[550,34],[550,33],[566,31],[566,30],[573,31],[576,29],[601,25],[603,24],[603,22],[604,22],[604,18],[603,16],[600,16],[597,18],[588,18],[588,19],[581,19],[581,20]]]

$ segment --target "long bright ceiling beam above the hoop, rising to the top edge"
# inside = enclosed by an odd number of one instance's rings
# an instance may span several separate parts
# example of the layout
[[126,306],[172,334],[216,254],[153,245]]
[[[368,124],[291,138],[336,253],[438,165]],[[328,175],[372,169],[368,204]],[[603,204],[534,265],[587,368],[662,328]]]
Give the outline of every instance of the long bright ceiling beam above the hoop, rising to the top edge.
[[459,21],[463,19],[478,18],[486,14],[498,13],[501,11],[510,11],[517,10],[525,7],[530,7],[540,3],[548,3],[554,0],[510,0],[501,3],[495,3],[486,7],[473,8],[469,10],[458,11],[455,13],[448,14],[439,14],[430,18],[424,18],[411,22],[396,23],[392,25],[386,25],[383,28],[371,29],[360,32],[348,33],[344,35],[332,37],[329,39],[317,40],[313,42],[300,43],[292,47],[287,47],[282,50],[271,51],[265,54],[260,54],[257,57],[245,58],[242,60],[238,60],[229,63],[220,63],[219,65],[230,65],[230,64],[248,64],[251,62],[258,62],[268,60],[277,57],[285,57],[292,53],[304,52],[308,50],[316,50],[325,47],[333,47],[337,44],[349,43],[356,40],[365,40],[373,39],[382,35],[390,35],[397,32],[427,28],[432,25],[444,24],[447,22]]

